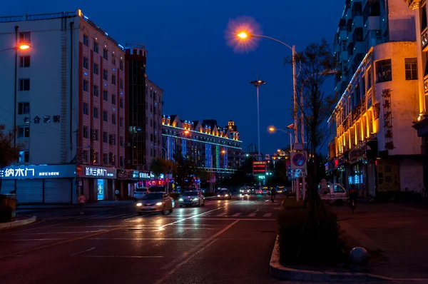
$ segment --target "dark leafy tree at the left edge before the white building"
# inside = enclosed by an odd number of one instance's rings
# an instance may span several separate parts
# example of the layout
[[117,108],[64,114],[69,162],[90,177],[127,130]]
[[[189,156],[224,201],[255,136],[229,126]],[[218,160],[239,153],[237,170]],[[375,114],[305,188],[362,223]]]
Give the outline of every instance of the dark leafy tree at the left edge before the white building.
[[24,147],[21,143],[14,146],[14,138],[17,131],[18,129],[6,131],[6,126],[0,124],[0,191],[4,168],[18,161],[19,151]]

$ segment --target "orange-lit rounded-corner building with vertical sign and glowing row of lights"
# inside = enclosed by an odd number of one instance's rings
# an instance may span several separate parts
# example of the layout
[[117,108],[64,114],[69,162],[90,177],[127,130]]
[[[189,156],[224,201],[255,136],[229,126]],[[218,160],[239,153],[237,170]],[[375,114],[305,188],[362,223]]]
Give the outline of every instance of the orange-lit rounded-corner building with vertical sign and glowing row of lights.
[[371,196],[421,190],[420,139],[411,127],[419,113],[416,58],[414,41],[396,41],[362,59],[329,119],[332,181]]

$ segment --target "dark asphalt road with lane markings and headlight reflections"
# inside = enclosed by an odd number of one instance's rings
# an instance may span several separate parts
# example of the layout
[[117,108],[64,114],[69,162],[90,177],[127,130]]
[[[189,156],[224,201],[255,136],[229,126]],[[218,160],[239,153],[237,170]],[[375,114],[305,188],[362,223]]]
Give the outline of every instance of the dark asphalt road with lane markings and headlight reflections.
[[281,198],[208,201],[167,215],[118,208],[39,212],[0,230],[1,283],[277,283],[269,273]]

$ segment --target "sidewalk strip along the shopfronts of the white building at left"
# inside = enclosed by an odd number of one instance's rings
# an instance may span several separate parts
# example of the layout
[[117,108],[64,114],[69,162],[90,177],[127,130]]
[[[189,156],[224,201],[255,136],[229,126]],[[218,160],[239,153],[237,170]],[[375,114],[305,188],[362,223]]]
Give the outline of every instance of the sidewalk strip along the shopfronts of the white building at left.
[[[135,201],[98,201],[95,203],[86,203],[85,208],[116,208],[121,206],[130,206]],[[16,211],[43,210],[43,209],[67,209],[77,208],[78,204],[19,204]]]

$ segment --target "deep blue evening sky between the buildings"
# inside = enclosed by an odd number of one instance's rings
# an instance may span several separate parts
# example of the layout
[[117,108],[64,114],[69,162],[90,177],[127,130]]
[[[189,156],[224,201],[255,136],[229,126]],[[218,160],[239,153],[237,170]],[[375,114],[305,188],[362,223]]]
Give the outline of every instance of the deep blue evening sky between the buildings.
[[261,148],[273,153],[289,141],[285,133],[267,133],[267,126],[285,128],[292,123],[292,69],[283,65],[291,51],[263,39],[255,51],[235,53],[225,40],[228,21],[252,16],[264,35],[302,51],[323,37],[332,43],[344,4],[344,0],[21,0],[1,4],[0,14],[81,9],[121,44],[144,44],[148,78],[164,90],[164,113],[189,120],[214,118],[224,126],[232,118],[244,151],[257,143],[255,87],[248,82],[259,75],[267,82],[260,87]]

